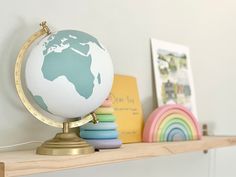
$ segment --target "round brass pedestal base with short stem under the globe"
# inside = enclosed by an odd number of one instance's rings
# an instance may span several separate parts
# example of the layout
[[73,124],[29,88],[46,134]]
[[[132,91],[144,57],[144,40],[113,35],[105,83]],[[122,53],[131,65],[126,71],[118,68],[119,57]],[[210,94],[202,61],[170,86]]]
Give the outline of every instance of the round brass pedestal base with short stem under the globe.
[[40,155],[81,155],[93,153],[94,148],[76,133],[69,132],[69,122],[63,123],[63,133],[58,133],[37,148]]

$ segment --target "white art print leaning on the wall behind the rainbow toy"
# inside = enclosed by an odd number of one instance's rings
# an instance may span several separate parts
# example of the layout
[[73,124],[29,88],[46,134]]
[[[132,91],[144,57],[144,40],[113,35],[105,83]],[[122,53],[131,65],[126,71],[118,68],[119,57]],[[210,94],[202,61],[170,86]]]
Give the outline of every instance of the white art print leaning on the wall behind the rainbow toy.
[[151,45],[158,106],[181,104],[197,117],[188,47],[156,39]]

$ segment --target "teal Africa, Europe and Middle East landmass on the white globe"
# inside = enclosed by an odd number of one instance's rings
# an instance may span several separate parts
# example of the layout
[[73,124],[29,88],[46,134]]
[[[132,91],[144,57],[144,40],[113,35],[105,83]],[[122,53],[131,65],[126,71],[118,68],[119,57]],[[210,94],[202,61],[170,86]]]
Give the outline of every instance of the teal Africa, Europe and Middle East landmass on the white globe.
[[89,42],[104,50],[96,38],[81,31],[64,30],[51,35],[43,46],[44,62],[41,70],[44,78],[53,81],[65,76],[76,91],[88,99],[93,93],[94,79],[101,84],[100,73],[94,76],[91,71]]

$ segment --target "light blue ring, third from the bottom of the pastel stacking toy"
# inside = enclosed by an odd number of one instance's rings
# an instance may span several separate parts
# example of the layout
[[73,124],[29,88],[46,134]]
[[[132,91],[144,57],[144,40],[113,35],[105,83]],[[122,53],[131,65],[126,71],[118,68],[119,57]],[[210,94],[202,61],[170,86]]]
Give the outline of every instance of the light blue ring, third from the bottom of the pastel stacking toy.
[[115,130],[117,128],[114,122],[99,122],[97,124],[87,123],[80,127],[80,130]]

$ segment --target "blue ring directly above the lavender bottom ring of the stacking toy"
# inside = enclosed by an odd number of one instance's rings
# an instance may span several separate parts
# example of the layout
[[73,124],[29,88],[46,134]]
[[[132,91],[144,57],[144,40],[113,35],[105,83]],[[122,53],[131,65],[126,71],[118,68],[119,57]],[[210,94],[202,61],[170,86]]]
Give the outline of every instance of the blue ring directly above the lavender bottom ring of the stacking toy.
[[82,130],[80,131],[80,137],[84,139],[115,139],[118,137],[118,132],[116,130]]

